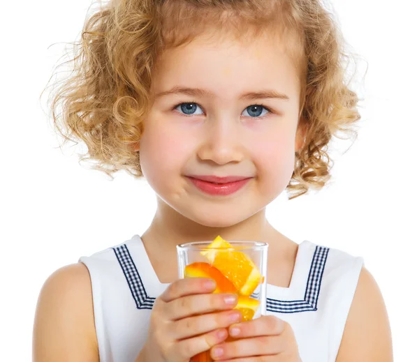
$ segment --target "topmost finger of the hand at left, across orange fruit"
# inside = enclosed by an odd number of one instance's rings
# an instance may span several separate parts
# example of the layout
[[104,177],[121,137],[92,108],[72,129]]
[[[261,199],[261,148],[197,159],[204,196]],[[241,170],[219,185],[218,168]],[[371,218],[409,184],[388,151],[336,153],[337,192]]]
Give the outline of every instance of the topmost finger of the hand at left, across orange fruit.
[[164,302],[170,302],[181,296],[214,292],[216,283],[210,278],[185,278],[172,282],[159,297]]

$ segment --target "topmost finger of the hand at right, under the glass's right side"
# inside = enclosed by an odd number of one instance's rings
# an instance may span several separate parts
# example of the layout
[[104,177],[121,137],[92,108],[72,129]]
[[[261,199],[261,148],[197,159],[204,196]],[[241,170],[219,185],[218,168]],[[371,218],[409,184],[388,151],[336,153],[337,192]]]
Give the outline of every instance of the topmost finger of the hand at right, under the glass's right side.
[[258,335],[279,335],[284,332],[286,322],[274,315],[252,319],[251,321],[233,324],[228,333],[235,338],[256,337]]

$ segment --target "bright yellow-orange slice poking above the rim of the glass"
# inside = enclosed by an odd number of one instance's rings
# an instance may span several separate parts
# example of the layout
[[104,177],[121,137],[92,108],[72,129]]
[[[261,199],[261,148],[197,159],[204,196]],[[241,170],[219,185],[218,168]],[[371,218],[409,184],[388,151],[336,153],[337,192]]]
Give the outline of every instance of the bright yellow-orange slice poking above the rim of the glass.
[[217,249],[202,251],[201,255],[205,256],[212,266],[219,269],[230,282],[233,282],[239,294],[251,295],[261,282],[262,276],[250,257],[241,251],[222,250],[222,248],[233,248],[233,246],[221,236],[217,236],[208,248]]

